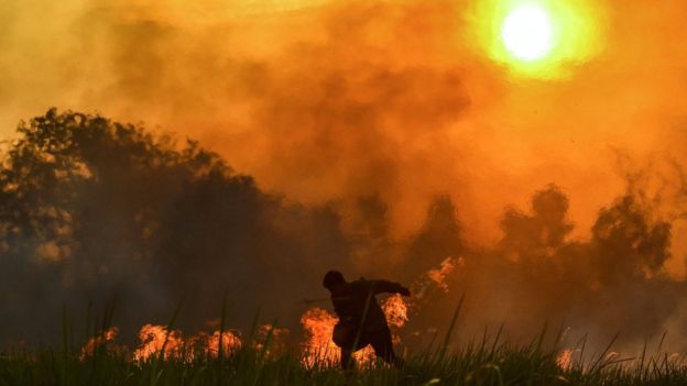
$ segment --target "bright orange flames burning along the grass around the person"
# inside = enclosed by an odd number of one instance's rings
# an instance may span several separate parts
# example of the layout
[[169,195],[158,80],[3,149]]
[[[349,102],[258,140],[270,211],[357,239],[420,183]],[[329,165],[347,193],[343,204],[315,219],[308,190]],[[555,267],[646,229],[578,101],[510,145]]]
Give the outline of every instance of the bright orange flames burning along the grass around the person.
[[[427,291],[440,289],[448,291],[447,277],[459,267],[465,265],[462,257],[447,257],[440,266],[423,274],[415,283],[413,290],[414,299],[408,304],[401,295],[394,294],[382,301],[381,307],[386,317],[386,322],[392,330],[392,338],[395,344],[401,339],[395,330],[403,328],[408,321],[410,306],[417,307],[418,300],[423,299]],[[307,366],[315,365],[337,365],[340,361],[340,350],[331,340],[334,327],[338,318],[321,308],[310,308],[301,317],[301,324],[305,331],[303,342],[303,363]],[[119,330],[112,328],[100,337],[88,341],[83,349],[81,356],[91,355],[99,345],[111,345]],[[257,339],[250,343],[253,350],[264,352],[266,355],[279,355],[286,352],[285,337],[288,330],[279,329],[272,324],[263,324],[257,331]],[[134,361],[145,361],[151,355],[157,355],[163,350],[164,357],[177,356],[182,359],[193,359],[196,354],[207,354],[217,356],[220,350],[220,332],[211,334],[199,332],[187,340],[184,340],[182,332],[170,330],[165,326],[145,324],[139,332],[140,345],[133,352]],[[265,344],[268,344],[265,349]],[[221,350],[223,355],[230,355],[243,345],[238,333],[223,331],[221,333]],[[565,356],[567,355],[567,356]],[[569,366],[571,352],[564,352],[557,363],[560,366]],[[373,363],[375,354],[372,348],[366,346],[353,354],[353,359],[359,364]]]

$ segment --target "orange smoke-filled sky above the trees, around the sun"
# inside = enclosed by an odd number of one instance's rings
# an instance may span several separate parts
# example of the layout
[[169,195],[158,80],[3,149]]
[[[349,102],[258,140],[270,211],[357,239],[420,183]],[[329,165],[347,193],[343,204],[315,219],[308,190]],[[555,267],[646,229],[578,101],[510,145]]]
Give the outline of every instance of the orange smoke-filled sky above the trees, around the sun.
[[475,247],[550,183],[572,240],[630,192],[673,224],[684,275],[687,3],[555,1],[581,37],[537,70],[494,55],[497,12],[466,3],[3,1],[0,135],[50,107],[144,122],[288,201],[339,202],[345,228],[374,196],[402,239],[448,196]]

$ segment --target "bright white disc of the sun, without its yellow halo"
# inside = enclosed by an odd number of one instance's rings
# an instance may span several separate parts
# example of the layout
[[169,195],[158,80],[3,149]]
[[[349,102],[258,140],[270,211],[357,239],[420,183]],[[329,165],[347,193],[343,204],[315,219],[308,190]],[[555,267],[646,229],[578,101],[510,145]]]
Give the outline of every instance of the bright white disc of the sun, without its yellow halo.
[[501,40],[505,49],[519,59],[544,58],[553,47],[552,20],[541,7],[517,7],[503,20]]

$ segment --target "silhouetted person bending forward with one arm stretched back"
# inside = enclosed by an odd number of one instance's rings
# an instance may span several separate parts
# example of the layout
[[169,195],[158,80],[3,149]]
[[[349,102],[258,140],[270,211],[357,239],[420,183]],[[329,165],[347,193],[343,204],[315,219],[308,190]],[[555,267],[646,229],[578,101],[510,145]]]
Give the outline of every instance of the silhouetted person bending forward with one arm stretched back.
[[338,271],[329,271],[323,285],[331,293],[334,310],[339,321],[334,327],[332,341],[341,349],[341,367],[348,370],[351,355],[368,344],[377,356],[394,366],[402,366],[391,341],[386,317],[374,295],[382,293],[410,296],[411,291],[399,283],[366,280],[348,283]]

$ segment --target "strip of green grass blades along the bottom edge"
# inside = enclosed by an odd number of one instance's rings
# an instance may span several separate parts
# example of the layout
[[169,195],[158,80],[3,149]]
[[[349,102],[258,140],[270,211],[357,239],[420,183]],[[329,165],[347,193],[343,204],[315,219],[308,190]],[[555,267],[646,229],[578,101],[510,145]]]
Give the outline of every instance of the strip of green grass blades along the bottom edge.
[[532,344],[481,342],[456,352],[437,350],[411,356],[402,370],[373,364],[351,372],[328,365],[304,367],[295,353],[269,357],[241,350],[227,357],[193,360],[153,356],[131,361],[123,351],[80,352],[35,349],[0,356],[0,385],[686,385],[687,368],[665,354],[632,364],[606,353],[568,371],[557,352]]

